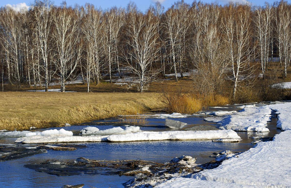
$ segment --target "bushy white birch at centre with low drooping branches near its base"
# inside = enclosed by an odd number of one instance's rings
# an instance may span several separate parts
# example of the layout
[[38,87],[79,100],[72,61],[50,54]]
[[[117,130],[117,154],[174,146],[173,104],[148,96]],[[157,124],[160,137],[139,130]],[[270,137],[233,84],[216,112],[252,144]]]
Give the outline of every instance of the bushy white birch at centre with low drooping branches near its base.
[[151,82],[156,81],[159,69],[154,70],[150,65],[158,57],[158,21],[152,12],[148,11],[143,15],[141,12],[129,12],[128,26],[126,32],[126,44],[131,51],[125,57],[136,64],[133,66],[128,61],[128,66],[134,73],[129,86],[136,86],[139,92],[148,89]]

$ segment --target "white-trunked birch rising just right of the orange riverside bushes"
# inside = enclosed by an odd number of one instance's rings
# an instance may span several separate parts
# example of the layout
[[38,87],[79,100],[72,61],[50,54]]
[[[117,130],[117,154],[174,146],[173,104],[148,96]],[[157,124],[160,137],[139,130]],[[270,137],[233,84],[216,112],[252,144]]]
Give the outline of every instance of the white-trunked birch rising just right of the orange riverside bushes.
[[231,66],[233,98],[235,99],[239,83],[252,79],[253,66],[250,49],[251,41],[251,7],[248,5],[230,5],[223,9],[222,28],[226,42],[226,57]]

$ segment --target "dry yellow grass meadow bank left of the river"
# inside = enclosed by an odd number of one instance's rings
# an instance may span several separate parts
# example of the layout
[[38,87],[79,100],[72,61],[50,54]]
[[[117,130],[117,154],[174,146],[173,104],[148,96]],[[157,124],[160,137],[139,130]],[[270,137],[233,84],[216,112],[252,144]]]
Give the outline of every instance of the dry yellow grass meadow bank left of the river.
[[164,106],[159,93],[0,93],[0,130],[76,124]]

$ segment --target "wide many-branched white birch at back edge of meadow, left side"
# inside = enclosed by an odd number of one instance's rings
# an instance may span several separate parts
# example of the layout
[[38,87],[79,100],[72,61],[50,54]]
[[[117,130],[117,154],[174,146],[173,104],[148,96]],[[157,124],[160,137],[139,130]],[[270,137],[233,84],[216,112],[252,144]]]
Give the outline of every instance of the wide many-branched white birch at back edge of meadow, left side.
[[54,60],[56,74],[61,84],[61,92],[65,92],[65,83],[69,79],[81,58],[81,49],[78,48],[79,32],[77,18],[74,10],[62,7],[54,10],[52,15],[54,23]]

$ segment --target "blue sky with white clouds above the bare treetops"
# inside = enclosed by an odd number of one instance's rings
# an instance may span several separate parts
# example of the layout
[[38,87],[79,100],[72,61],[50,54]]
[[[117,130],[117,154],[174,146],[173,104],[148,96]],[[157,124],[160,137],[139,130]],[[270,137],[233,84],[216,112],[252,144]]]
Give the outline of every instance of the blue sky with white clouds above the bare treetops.
[[[54,0],[54,3],[56,5],[60,5],[60,3],[63,0]],[[103,9],[107,9],[111,6],[117,6],[117,7],[126,7],[127,3],[129,3],[130,0],[67,0],[67,4],[68,5],[74,5],[75,3],[79,4],[79,5],[84,5],[85,3],[92,3],[95,6],[99,7],[101,6]],[[150,4],[154,4],[155,1],[157,0],[132,0],[133,2],[136,3],[136,5],[139,7],[139,9],[141,10],[146,10]],[[175,0],[158,0],[160,2],[162,2],[162,5],[165,8],[170,7]],[[187,3],[191,3],[193,0],[184,0]],[[204,2],[213,2],[212,0],[202,0]],[[224,4],[227,3],[228,0],[216,0],[218,3]],[[244,2],[246,0],[233,0],[233,1],[238,1],[238,2]],[[273,0],[248,0],[249,2],[251,2],[253,5],[263,5],[264,2],[269,2],[269,3],[273,3]],[[27,5],[31,4],[33,2],[33,0],[1,0],[0,2],[0,6],[4,6],[6,4],[18,4],[18,3],[26,3]],[[288,0],[288,2],[291,2],[291,0]]]

